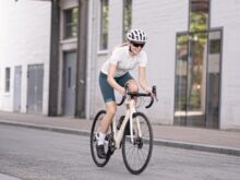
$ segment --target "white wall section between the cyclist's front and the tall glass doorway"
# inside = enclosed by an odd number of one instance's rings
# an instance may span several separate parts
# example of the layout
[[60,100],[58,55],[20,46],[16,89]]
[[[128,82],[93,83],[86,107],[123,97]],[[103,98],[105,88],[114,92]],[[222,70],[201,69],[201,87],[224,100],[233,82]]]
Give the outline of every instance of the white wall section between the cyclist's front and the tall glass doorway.
[[133,27],[148,36],[147,79],[157,85],[159,101],[147,111],[157,123],[173,123],[176,34],[188,31],[188,0],[133,1]]

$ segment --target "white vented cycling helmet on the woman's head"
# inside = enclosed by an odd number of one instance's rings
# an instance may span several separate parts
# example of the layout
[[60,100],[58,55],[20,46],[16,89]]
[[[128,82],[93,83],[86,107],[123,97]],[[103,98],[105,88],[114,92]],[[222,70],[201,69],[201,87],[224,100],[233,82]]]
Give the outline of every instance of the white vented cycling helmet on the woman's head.
[[140,43],[140,44],[145,44],[147,40],[146,37],[146,33],[142,29],[131,29],[128,34],[127,34],[127,38],[129,41],[135,41],[135,43]]

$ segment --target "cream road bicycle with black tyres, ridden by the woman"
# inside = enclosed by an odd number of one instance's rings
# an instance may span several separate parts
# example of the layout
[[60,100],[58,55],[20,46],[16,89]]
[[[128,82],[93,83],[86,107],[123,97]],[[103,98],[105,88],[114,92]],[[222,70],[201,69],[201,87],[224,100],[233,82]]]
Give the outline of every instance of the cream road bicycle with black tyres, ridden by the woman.
[[[105,151],[107,158],[101,159],[97,156],[96,145],[100,121],[106,115],[106,110],[100,110],[96,115],[91,130],[91,153],[94,163],[98,167],[104,167],[109,161],[115,149],[122,149],[122,157],[127,169],[133,173],[141,173],[148,165],[153,152],[153,130],[147,117],[136,111],[136,101],[142,97],[151,97],[149,108],[156,96],[156,86],[153,86],[152,94],[131,93],[125,87],[125,95],[118,106],[125,104],[125,115],[121,116],[118,123],[113,118],[112,123],[105,139]],[[136,100],[137,99],[137,100]]]

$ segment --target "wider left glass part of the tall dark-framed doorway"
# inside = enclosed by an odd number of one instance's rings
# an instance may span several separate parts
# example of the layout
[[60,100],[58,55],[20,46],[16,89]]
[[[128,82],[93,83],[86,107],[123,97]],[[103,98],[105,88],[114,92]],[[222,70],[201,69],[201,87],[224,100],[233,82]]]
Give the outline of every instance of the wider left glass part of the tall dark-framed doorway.
[[206,33],[177,37],[175,123],[203,127],[206,97]]

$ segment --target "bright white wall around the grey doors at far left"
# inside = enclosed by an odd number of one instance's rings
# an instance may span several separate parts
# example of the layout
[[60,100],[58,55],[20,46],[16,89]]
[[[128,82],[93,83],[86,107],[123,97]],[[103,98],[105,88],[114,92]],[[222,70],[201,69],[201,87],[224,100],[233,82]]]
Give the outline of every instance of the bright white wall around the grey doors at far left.
[[[44,64],[43,112],[48,110],[50,2],[0,1],[0,110],[13,110],[14,67],[22,65],[22,112],[26,112],[27,65]],[[4,93],[4,69],[11,68],[11,91]]]

